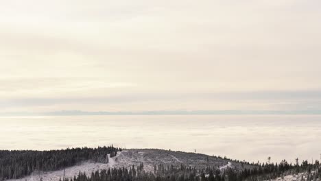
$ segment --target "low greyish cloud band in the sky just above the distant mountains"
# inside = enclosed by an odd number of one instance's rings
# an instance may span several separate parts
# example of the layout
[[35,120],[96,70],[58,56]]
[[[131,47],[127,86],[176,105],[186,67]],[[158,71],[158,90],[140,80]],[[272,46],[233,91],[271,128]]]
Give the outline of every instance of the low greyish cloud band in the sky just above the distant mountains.
[[[321,92],[120,93],[2,99],[0,106],[1,112],[53,114],[60,110],[67,110],[62,114],[319,114]],[[69,112],[75,109],[83,111]]]

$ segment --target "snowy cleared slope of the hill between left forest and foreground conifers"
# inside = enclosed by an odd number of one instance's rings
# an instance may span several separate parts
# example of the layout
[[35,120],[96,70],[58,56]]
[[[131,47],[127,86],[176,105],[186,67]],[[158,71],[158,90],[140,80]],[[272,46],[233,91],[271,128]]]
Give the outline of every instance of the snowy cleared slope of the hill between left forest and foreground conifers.
[[[187,165],[191,167],[218,167],[220,169],[226,169],[228,167],[241,167],[241,163],[233,162],[231,160],[224,160],[213,156],[207,156],[204,154],[186,153],[186,152],[173,152],[163,149],[127,149],[123,152],[118,152],[117,156],[110,158],[108,154],[108,163],[99,162],[82,162],[79,165],[73,167],[67,167],[65,169],[65,178],[73,178],[78,173],[85,172],[90,175],[93,171],[108,169],[113,167],[137,167],[143,162],[145,171],[154,171],[154,167],[159,164],[163,165]],[[233,165],[233,166],[232,166]],[[250,168],[250,165],[243,165],[243,167]],[[63,178],[64,170],[48,171],[48,172],[34,172],[31,176],[20,178],[17,180],[9,181],[39,181],[41,178],[43,181],[58,181],[59,178]]]

